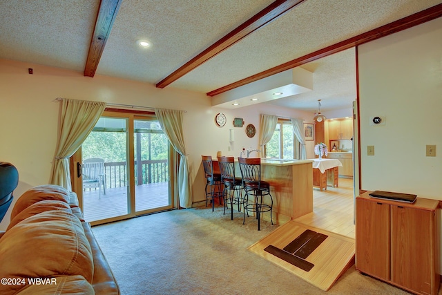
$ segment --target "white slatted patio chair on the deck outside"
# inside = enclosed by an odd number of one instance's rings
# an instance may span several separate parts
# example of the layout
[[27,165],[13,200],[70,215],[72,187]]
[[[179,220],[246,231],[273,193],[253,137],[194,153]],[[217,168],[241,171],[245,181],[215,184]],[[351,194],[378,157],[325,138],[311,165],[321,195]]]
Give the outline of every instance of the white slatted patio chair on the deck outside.
[[106,195],[106,175],[104,173],[104,160],[90,158],[83,161],[83,189],[98,188],[98,198]]

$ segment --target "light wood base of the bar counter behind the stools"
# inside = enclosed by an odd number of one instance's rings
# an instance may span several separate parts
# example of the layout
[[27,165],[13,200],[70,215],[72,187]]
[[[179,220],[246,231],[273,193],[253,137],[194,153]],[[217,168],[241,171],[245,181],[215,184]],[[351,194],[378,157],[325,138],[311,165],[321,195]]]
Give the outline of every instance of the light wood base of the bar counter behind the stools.
[[[313,212],[311,160],[261,160],[261,179],[270,183],[277,225]],[[262,214],[270,221],[270,214]]]

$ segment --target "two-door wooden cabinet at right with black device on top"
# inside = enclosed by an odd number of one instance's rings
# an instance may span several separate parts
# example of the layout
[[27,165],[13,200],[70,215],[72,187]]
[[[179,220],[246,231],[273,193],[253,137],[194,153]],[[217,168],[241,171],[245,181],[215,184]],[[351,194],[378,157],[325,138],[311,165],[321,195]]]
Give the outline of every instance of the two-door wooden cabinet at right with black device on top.
[[416,294],[437,294],[437,200],[356,198],[356,269]]

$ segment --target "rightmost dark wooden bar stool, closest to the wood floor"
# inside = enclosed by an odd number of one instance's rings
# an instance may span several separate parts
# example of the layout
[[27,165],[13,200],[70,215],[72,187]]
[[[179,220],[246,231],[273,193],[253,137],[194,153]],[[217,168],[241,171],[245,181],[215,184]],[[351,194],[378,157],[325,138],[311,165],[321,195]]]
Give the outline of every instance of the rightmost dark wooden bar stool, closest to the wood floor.
[[[246,191],[246,202],[244,207],[244,221],[245,224],[246,213],[256,212],[258,219],[258,231],[261,230],[260,214],[270,211],[271,225],[273,225],[273,218],[271,217],[271,210],[273,209],[273,198],[270,194],[270,184],[261,180],[261,159],[260,158],[238,158],[240,163],[242,184]],[[249,196],[253,196],[253,202],[249,203]],[[262,197],[269,196],[270,204],[262,202]]]

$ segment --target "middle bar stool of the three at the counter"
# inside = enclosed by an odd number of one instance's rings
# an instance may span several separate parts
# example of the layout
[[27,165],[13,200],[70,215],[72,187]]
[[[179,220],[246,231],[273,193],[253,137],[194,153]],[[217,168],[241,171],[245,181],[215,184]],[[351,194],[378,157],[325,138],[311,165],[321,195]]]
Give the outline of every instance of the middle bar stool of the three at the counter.
[[242,197],[242,179],[235,177],[235,159],[233,157],[218,157],[220,165],[221,180],[224,184],[224,213],[226,208],[231,209],[231,220],[233,220],[233,206],[238,205],[238,212],[244,207],[245,198]]

